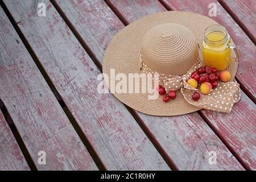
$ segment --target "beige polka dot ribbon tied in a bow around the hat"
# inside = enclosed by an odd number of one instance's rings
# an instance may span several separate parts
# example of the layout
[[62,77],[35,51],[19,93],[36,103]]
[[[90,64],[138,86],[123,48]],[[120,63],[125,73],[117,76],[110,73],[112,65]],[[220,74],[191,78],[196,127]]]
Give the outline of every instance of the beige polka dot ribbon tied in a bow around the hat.
[[[181,93],[185,100],[191,105],[202,109],[230,113],[233,105],[240,100],[240,85],[237,82],[218,82],[217,87],[212,89],[212,92],[203,94],[199,89],[195,89],[187,84],[187,80],[191,77],[192,72],[196,71],[199,67],[201,67],[200,59],[198,59],[193,67],[184,75],[172,76],[155,72],[148,68],[143,61],[141,62],[142,72],[159,74],[159,85],[164,86],[167,93],[170,90],[176,91],[181,89]],[[154,77],[152,79],[154,79]],[[195,92],[200,93],[200,100],[198,101],[192,99],[192,95]]]

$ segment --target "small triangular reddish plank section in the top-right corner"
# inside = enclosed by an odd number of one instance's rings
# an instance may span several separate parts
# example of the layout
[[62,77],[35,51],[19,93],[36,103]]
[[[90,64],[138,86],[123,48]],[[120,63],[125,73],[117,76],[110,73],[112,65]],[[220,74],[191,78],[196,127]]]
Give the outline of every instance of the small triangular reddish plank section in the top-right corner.
[[255,0],[221,0],[222,6],[232,15],[243,31],[256,43],[256,1]]

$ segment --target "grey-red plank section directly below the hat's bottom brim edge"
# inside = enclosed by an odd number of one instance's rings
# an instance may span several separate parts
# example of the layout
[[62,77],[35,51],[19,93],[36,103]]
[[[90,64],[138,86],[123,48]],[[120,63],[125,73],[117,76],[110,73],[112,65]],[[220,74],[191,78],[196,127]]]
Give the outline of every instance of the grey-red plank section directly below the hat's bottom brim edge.
[[[243,170],[198,113],[155,117],[139,113],[145,125],[180,170]],[[210,152],[217,163],[210,165]]]

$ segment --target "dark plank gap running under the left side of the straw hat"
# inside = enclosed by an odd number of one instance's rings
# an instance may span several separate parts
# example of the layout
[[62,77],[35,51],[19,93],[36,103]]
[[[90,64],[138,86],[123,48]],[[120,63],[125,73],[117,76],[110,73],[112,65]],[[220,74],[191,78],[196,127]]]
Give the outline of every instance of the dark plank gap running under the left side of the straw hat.
[[[89,46],[85,43],[84,39],[82,39],[81,35],[79,34],[79,32],[77,32],[76,28],[72,25],[72,23],[70,22],[70,20],[68,19],[68,17],[65,15],[65,13],[61,10],[60,6],[57,5],[57,3],[55,2],[55,0],[49,0],[52,5],[55,7],[55,9],[58,11],[58,13],[60,14],[60,16],[64,19],[65,23],[68,25],[68,27],[71,29],[71,31],[73,32],[73,34],[76,36],[77,40],[80,42],[81,46],[85,49],[85,51],[88,53],[88,55],[91,57],[91,59],[93,60],[94,64],[96,64],[96,66],[98,67],[98,69],[100,69],[100,72],[102,72],[102,65],[100,63],[100,61],[97,59],[97,57],[94,55],[94,53],[92,52],[92,50],[89,48]],[[105,1],[105,0],[104,0]],[[114,11],[113,11],[114,12]],[[114,12],[115,13],[115,12]],[[119,16],[118,16],[119,18]],[[121,20],[122,21],[122,20]],[[125,18],[123,17],[123,24],[125,24],[126,26],[129,24]],[[148,139],[150,139],[151,143],[154,145],[154,147],[156,148],[156,150],[159,152],[159,154],[162,156],[162,158],[164,159],[164,161],[168,164],[168,166],[174,170],[174,171],[178,171],[179,169],[176,167],[175,163],[173,162],[173,160],[168,156],[168,154],[166,153],[166,151],[164,151],[163,147],[160,145],[160,143],[156,140],[156,138],[154,137],[154,135],[150,132],[150,130],[147,128],[146,125],[144,125],[144,123],[141,121],[141,118],[139,117],[139,115],[133,110],[131,109],[129,106],[123,104],[127,110],[130,112],[131,115],[133,115],[135,121],[137,121],[138,125],[141,127],[141,129],[143,130],[143,132],[146,134],[146,136],[148,137]],[[70,113],[71,114],[71,113]]]

